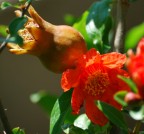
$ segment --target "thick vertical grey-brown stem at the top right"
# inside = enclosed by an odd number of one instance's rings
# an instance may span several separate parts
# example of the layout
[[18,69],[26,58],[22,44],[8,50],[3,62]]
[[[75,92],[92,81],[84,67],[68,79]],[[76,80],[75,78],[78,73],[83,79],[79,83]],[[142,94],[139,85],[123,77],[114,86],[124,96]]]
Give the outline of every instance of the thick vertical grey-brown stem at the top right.
[[126,33],[126,13],[129,7],[128,0],[117,0],[116,7],[116,31],[114,38],[113,51],[123,52],[124,51],[124,36]]

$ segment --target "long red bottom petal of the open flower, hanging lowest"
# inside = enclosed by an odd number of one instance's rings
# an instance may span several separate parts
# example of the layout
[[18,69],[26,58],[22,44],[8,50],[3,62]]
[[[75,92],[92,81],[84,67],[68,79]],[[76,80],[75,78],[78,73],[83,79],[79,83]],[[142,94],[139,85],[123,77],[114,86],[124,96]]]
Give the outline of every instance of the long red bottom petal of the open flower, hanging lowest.
[[88,118],[95,124],[98,124],[100,126],[104,126],[108,119],[105,117],[105,115],[97,108],[97,106],[94,104],[94,100],[91,98],[87,98],[85,102],[85,109],[86,114]]

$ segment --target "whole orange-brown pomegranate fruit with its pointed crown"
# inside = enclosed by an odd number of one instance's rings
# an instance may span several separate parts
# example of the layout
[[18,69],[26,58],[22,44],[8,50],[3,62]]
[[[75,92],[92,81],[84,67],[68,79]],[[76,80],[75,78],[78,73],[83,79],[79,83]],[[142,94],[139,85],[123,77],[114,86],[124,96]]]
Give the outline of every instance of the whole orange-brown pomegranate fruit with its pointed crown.
[[[28,12],[28,22],[19,35],[24,44],[8,43],[13,54],[31,54],[37,56],[43,65],[54,73],[75,68],[77,59],[86,53],[87,47],[83,36],[73,27],[53,25],[41,18],[32,6]],[[21,12],[15,12],[20,17]]]

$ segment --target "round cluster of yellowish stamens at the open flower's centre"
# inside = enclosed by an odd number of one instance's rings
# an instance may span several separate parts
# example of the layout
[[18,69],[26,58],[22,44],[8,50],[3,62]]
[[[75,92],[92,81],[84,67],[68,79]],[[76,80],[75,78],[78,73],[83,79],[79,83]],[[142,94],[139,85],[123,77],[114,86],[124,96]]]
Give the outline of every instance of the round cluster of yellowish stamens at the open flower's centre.
[[84,91],[87,92],[89,95],[101,97],[108,85],[108,74],[101,71],[96,71],[88,77]]

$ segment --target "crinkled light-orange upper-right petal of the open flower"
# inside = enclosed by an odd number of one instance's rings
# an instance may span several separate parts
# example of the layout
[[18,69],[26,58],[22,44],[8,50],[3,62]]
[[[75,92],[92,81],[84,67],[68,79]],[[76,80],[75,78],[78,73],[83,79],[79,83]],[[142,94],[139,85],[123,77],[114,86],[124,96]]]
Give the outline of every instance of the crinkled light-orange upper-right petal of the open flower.
[[126,56],[117,52],[103,54],[103,64],[109,68],[121,68],[126,62]]

